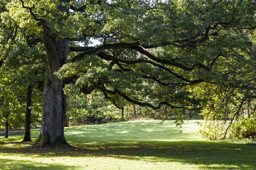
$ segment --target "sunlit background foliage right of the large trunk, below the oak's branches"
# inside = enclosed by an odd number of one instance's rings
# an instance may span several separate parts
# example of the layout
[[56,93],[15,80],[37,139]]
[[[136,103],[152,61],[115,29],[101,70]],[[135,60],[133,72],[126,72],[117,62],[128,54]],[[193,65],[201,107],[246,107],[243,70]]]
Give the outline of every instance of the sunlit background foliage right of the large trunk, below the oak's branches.
[[81,94],[79,89],[66,86],[68,96],[67,118],[71,125],[105,123],[107,118],[117,119],[121,111],[112,105],[110,101],[105,101],[100,92],[92,94]]

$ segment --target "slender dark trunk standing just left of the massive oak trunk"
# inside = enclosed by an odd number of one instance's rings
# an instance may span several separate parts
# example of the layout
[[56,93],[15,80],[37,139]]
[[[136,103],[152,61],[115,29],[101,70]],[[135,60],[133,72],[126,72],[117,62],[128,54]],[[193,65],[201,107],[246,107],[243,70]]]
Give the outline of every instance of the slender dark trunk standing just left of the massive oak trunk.
[[25,135],[23,142],[31,141],[31,103],[32,103],[32,89],[33,86],[28,85],[27,88],[27,102],[26,102],[26,120],[25,120]]

